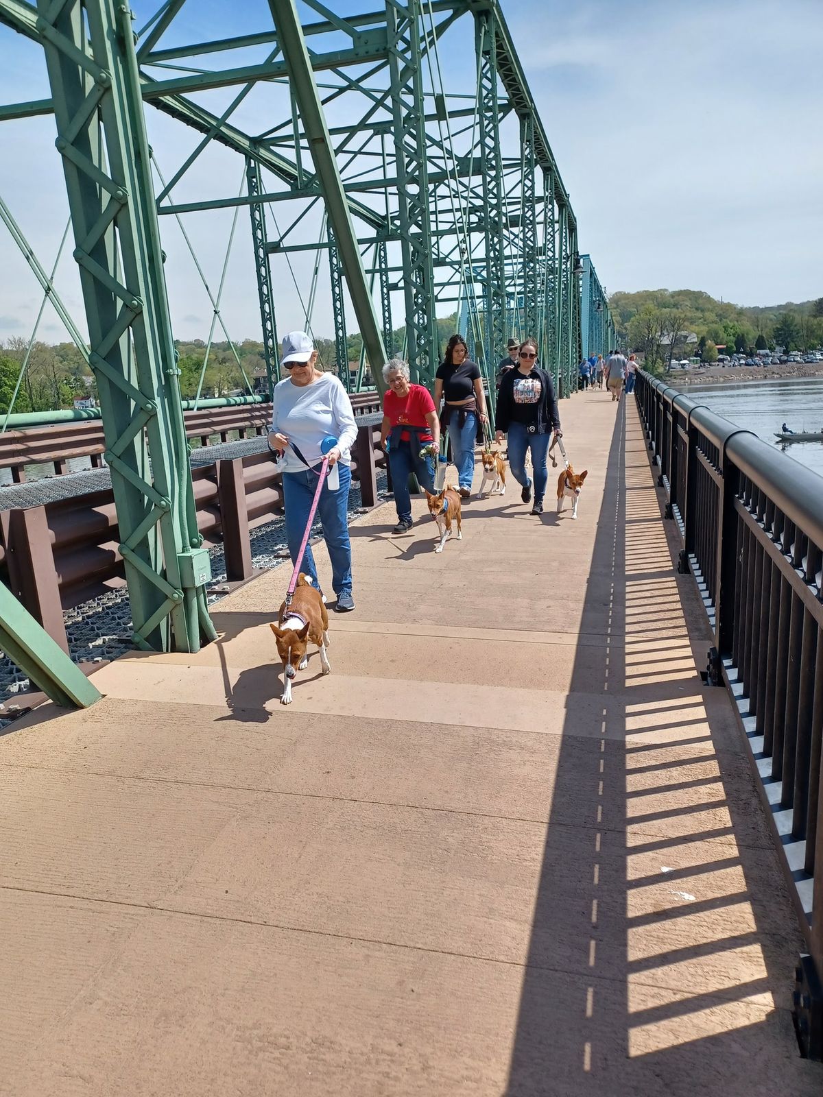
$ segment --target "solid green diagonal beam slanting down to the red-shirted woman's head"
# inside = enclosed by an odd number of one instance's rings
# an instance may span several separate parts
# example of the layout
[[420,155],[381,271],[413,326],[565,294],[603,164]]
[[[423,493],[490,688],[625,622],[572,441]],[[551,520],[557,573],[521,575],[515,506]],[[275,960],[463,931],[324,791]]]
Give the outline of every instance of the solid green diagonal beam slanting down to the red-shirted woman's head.
[[385,387],[381,372],[385,361],[383,338],[374,310],[374,302],[365,280],[363,261],[351,223],[331,138],[326,128],[326,117],[314,82],[297,10],[294,0],[269,0],[269,7],[280,34],[283,56],[289,66],[292,94],[297,101],[303,127],[308,134],[312,159],[326,200],[328,222],[340,251],[340,261],[346,273],[349,296],[358,318],[360,335],[365,344],[375,384],[382,393]]

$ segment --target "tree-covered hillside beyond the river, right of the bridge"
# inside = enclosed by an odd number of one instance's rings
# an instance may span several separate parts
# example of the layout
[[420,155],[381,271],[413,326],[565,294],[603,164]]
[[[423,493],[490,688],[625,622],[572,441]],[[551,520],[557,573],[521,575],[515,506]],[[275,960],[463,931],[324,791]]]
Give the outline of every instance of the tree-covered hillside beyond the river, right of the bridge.
[[642,353],[652,371],[681,355],[715,362],[719,348],[726,354],[754,354],[823,344],[823,297],[746,308],[699,290],[643,290],[611,294],[609,307],[621,346]]

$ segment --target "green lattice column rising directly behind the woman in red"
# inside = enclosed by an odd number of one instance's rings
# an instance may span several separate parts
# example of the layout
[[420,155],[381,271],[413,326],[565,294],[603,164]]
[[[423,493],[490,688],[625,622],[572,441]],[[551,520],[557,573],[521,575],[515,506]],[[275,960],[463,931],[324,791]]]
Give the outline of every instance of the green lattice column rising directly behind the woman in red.
[[438,364],[438,341],[419,0],[408,0],[405,4],[386,0],[386,24],[408,362],[416,381],[432,385]]

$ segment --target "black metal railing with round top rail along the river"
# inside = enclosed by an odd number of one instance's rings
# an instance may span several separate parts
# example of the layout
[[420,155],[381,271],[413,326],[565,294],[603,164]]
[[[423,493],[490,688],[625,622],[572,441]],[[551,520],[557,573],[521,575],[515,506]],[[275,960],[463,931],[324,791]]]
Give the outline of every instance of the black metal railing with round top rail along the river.
[[801,1045],[823,1058],[823,477],[663,382],[635,396],[714,646],[706,679],[737,706],[808,953]]

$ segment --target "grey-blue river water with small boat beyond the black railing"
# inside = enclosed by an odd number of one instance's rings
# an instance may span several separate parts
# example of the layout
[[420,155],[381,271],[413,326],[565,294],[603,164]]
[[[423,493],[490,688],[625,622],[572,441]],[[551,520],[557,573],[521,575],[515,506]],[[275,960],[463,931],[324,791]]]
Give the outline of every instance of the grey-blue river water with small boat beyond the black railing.
[[775,438],[783,423],[794,431],[823,430],[823,377],[675,387],[823,476],[823,441],[782,445]]

